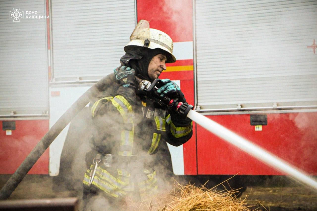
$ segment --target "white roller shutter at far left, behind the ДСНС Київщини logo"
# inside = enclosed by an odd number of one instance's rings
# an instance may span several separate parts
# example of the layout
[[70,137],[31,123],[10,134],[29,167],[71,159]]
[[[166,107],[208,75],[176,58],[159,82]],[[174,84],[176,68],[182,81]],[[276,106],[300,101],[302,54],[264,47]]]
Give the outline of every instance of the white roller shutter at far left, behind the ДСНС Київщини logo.
[[[13,22],[17,7],[23,18]],[[44,16],[45,1],[0,1],[0,117],[48,110],[46,19],[27,19],[30,10]]]

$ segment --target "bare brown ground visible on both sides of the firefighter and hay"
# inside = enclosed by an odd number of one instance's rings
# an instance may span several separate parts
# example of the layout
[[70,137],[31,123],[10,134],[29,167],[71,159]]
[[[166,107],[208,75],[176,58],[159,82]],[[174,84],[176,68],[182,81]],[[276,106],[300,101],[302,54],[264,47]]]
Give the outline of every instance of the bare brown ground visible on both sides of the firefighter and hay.
[[[9,179],[9,175],[0,175],[0,187]],[[43,175],[27,175],[17,189],[12,193],[9,199],[35,199],[35,198],[56,198],[56,197],[79,197],[79,191],[61,191],[52,190],[52,177]],[[317,210],[317,193],[311,189],[298,184],[268,184],[261,181],[262,184],[251,184],[242,194],[241,198],[247,197],[247,204],[253,205],[253,208],[261,210]],[[261,202],[260,203],[258,202]]]

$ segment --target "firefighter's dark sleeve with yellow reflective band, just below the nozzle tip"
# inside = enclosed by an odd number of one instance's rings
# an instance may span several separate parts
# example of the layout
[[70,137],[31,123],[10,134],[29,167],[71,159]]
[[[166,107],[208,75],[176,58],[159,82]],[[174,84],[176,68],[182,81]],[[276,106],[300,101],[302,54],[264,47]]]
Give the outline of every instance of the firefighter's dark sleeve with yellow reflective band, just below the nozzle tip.
[[167,143],[180,146],[191,138],[193,123],[190,118],[183,117],[178,113],[171,113],[166,116],[165,121]]

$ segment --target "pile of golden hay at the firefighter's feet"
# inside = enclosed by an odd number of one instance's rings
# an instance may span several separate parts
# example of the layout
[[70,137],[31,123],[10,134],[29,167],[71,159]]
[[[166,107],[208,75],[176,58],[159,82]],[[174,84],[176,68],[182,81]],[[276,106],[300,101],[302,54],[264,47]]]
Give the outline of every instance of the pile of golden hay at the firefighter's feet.
[[[169,195],[157,197],[151,203],[142,203],[132,210],[150,211],[190,211],[190,210],[249,210],[245,199],[238,200],[235,196],[237,191],[217,191],[207,189],[204,186],[180,185]],[[155,201],[155,202],[154,202]]]

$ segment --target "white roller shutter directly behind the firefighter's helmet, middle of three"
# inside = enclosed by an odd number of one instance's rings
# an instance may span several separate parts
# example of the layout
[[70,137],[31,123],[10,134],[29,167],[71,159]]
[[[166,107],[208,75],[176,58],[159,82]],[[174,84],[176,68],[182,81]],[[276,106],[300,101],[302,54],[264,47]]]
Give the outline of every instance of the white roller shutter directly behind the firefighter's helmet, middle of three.
[[111,73],[135,27],[134,0],[51,4],[54,80],[97,80]]

